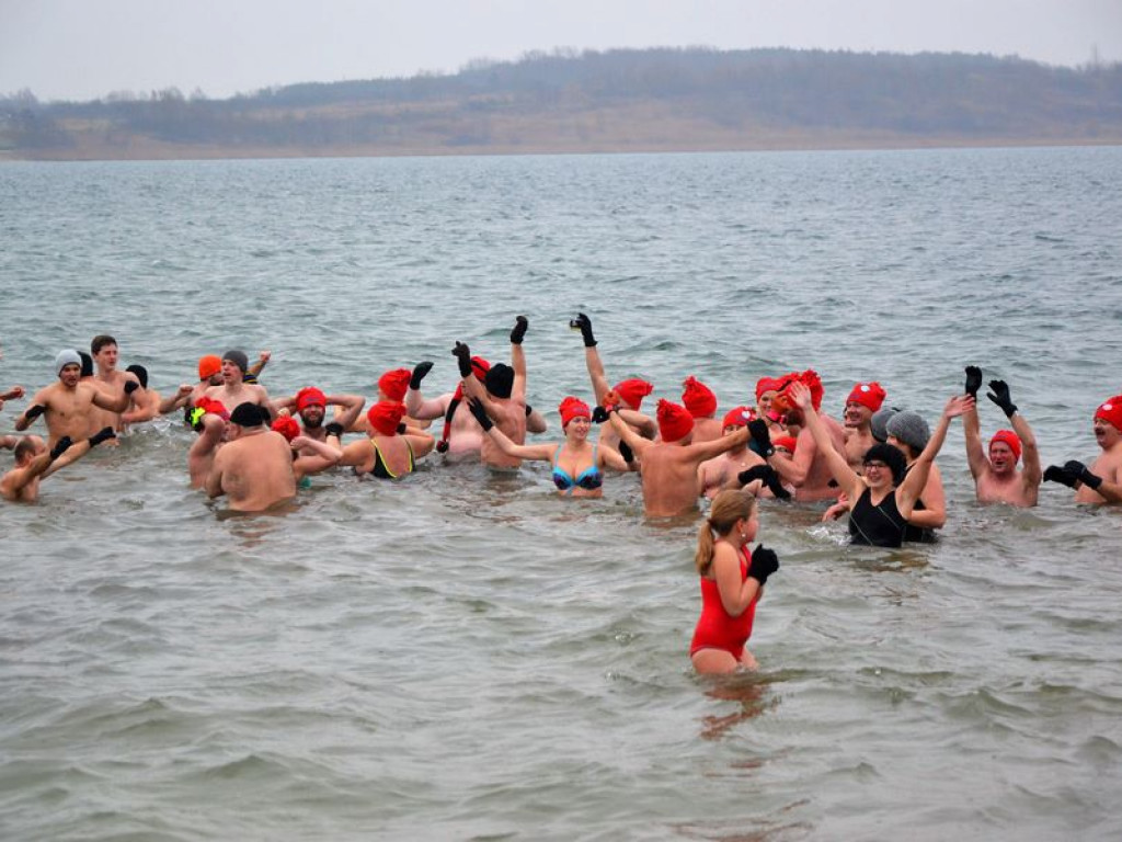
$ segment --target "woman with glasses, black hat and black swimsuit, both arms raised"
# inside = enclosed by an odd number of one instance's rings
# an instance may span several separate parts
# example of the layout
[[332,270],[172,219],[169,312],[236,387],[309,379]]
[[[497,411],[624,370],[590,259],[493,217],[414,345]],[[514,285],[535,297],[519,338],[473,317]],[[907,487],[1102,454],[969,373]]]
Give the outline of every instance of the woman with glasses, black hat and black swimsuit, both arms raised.
[[935,457],[947,438],[950,419],[969,410],[974,405],[974,399],[969,395],[956,395],[947,401],[938,425],[907,476],[907,459],[892,445],[874,445],[865,451],[865,475],[859,476],[849,467],[845,456],[830,443],[829,434],[811,405],[810,390],[801,383],[794,384],[791,397],[806,415],[815,443],[826,455],[830,474],[849,501],[850,541],[872,547],[900,547],[908,519],[927,484]]

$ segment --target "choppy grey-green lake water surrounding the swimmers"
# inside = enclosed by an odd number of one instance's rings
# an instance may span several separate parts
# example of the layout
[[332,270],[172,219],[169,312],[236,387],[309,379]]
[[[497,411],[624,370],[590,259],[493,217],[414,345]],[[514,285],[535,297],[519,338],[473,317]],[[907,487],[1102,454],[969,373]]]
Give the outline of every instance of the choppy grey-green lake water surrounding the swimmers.
[[[1046,464],[1122,391],[1122,149],[0,167],[0,386],[113,333],[157,388],[269,348],[275,394],[373,393],[531,331],[531,402],[815,367],[934,420],[977,363]],[[982,408],[983,431],[1004,421]],[[7,406],[8,431],[22,402]],[[137,430],[0,507],[6,839],[1116,839],[1122,513],[973,501],[934,547],[767,504],[757,675],[699,680],[693,523],[425,466],[284,516],[186,488]],[[0,456],[0,467],[10,465]],[[131,835],[130,835],[131,834]]]

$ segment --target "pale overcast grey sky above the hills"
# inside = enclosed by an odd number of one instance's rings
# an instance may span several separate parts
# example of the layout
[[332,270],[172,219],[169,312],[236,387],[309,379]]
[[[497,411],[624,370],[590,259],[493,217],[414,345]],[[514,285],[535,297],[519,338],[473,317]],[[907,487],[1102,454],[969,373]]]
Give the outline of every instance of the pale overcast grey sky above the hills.
[[799,47],[1122,61],[1122,0],[0,0],[0,93],[454,72],[554,47]]

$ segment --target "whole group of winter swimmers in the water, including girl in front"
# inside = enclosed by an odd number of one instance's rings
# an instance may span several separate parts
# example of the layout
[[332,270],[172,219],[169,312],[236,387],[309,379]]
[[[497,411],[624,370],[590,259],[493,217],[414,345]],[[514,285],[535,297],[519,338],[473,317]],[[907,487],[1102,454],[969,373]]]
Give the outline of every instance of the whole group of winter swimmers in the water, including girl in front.
[[[473,356],[456,342],[459,382],[435,397],[422,393],[432,361],[386,372],[365,413],[361,395],[327,394],[315,386],[270,397],[257,379],[269,361],[267,351],[252,365],[240,350],[204,356],[196,382],[162,396],[142,366],[119,370],[117,341],[98,336],[90,355],[58,354],[57,379],[36,392],[15,420],[22,432],[42,417],[47,440],[0,437],[0,446],[15,451],[0,495],[34,502],[42,479],[91,448],[116,442],[129,425],[181,412],[196,433],[187,454],[192,487],[210,497],[224,495],[241,512],[282,504],[307,477],[337,466],[359,476],[399,478],[434,450],[447,460],[504,469],[524,459],[546,461],[558,493],[573,497],[600,496],[608,472],[636,472],[650,516],[688,514],[697,511],[699,497],[712,501],[696,555],[702,614],[690,655],[699,672],[754,666],[745,643],[767,577],[779,568],[772,550],[748,550],[758,529],[757,498],[830,501],[824,519],[848,513],[854,543],[930,541],[946,522],[935,459],[955,418],[964,421],[980,502],[1032,506],[1041,482],[1049,481],[1073,488],[1078,503],[1122,503],[1122,395],[1094,413],[1101,452],[1089,467],[1068,461],[1045,470],[1032,430],[1002,381],[990,381],[986,396],[1012,429],[999,430],[983,446],[976,403],[983,375],[976,366],[966,367],[963,393],[947,401],[934,431],[918,413],[884,406],[886,393],[875,382],[857,383],[843,422],[836,421],[821,411],[824,390],[813,370],[760,378],[755,402],[720,418],[712,391],[688,377],[681,403],[660,400],[652,418],[642,403],[653,385],[640,378],[610,385],[585,313],[570,327],[583,340],[595,401],[567,396],[558,408],[561,440],[526,443],[527,433],[548,430],[526,403],[522,346],[528,327],[517,317],[509,365]],[[0,409],[22,397],[15,386],[0,394]],[[433,422],[439,437],[430,432]],[[599,425],[595,443],[594,425]],[[344,443],[348,434],[353,437]]]

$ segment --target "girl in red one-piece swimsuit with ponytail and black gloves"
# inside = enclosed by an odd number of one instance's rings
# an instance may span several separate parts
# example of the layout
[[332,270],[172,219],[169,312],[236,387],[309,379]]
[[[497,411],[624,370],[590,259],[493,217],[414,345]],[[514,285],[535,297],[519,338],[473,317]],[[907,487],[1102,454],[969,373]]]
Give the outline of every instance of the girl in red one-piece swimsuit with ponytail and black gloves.
[[698,530],[695,560],[701,576],[701,617],[690,643],[698,672],[757,666],[744,644],[752,635],[764,583],[779,569],[775,552],[763,544],[749,557],[747,546],[758,529],[756,498],[743,491],[723,491]]

